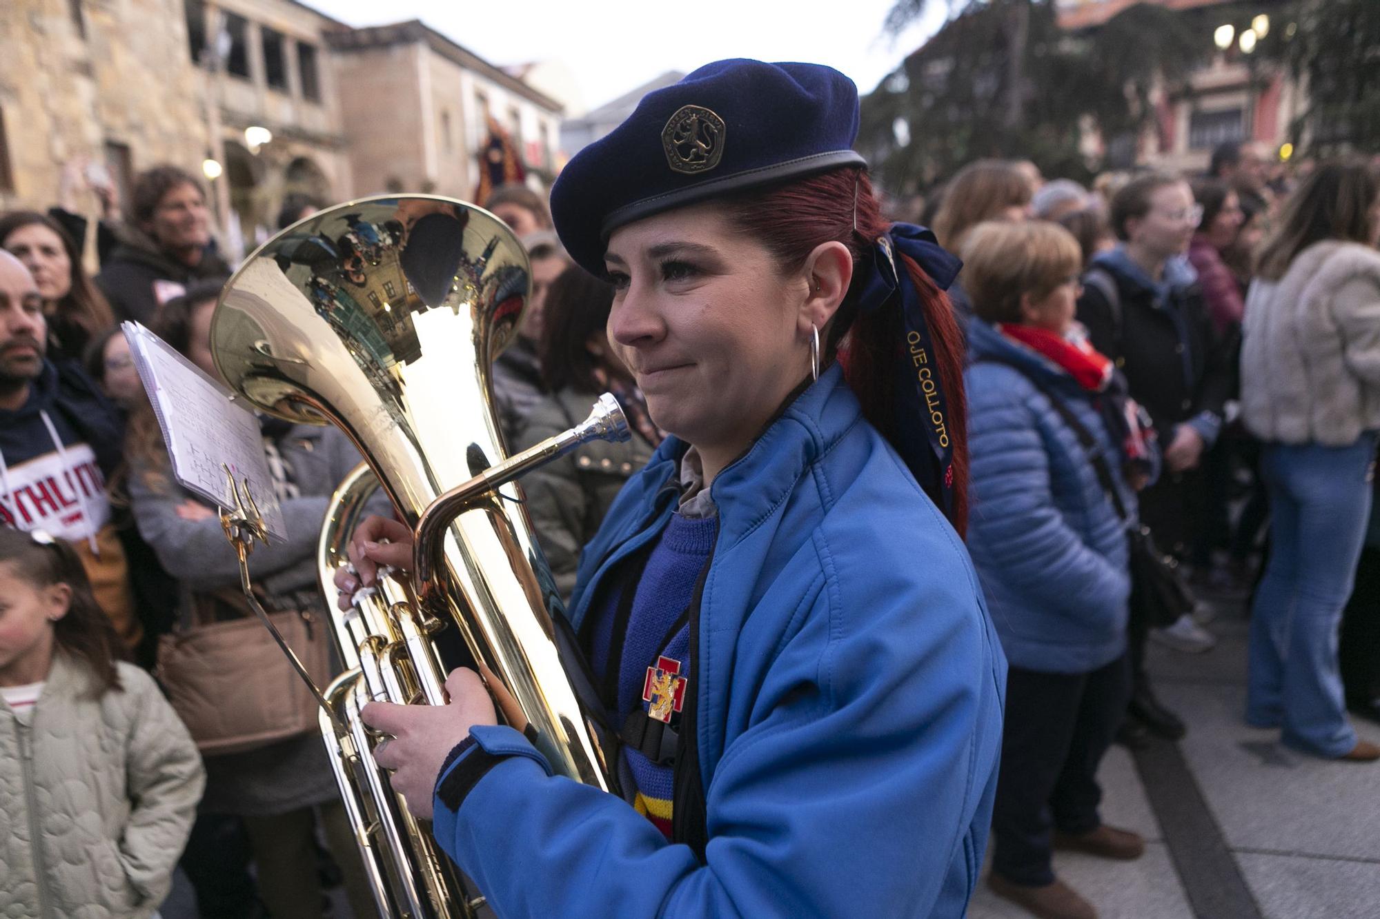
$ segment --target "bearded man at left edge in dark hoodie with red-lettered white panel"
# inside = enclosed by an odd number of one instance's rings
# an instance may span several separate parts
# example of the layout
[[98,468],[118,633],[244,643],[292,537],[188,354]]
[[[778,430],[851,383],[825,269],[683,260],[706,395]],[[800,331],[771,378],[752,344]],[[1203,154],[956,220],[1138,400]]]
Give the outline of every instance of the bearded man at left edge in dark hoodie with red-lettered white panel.
[[142,626],[110,515],[106,476],[120,464],[120,422],[76,364],[46,359],[43,297],[0,250],[0,526],[72,544],[126,647]]

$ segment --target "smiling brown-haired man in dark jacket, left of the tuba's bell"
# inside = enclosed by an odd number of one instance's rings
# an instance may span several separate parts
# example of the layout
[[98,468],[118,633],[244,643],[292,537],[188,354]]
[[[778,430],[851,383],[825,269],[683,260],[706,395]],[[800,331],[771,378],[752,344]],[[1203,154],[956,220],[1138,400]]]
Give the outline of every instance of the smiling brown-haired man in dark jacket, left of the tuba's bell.
[[95,279],[119,319],[146,324],[193,280],[230,273],[211,241],[206,195],[189,172],[175,166],[142,172],[130,218],[132,228]]

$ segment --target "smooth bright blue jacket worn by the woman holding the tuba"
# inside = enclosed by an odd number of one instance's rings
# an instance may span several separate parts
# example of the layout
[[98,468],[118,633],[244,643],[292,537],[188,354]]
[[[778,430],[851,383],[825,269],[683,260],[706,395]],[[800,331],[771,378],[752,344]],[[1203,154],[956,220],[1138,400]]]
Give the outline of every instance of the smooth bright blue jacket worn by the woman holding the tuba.
[[[686,444],[669,437],[581,562],[600,580],[654,537]],[[624,800],[553,778],[509,727],[442,849],[500,916],[962,916],[983,864],[1006,662],[967,552],[839,367],[715,477],[719,538],[690,684],[700,862]]]

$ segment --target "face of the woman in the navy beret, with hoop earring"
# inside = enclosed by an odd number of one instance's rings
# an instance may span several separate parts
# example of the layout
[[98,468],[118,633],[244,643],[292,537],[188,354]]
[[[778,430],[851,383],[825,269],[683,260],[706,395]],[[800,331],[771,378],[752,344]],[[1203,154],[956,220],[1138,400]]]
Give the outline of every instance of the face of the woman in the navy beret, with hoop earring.
[[[817,309],[824,301],[813,293],[816,268],[781,275],[771,254],[734,233],[712,203],[614,230],[604,264],[617,291],[609,342],[651,418],[720,462],[741,453],[806,379],[810,326],[822,341],[838,306]],[[838,299],[851,276],[851,261],[843,264],[831,258],[821,270],[843,276],[818,281]]]

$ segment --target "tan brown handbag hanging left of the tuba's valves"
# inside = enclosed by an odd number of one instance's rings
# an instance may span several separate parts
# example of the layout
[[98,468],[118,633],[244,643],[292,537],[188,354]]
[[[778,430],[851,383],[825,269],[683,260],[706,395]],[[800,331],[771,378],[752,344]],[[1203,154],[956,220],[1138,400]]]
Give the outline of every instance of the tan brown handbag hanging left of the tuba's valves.
[[[269,620],[324,686],[330,647],[313,603],[273,606],[279,610]],[[196,593],[189,607],[159,639],[155,672],[203,755],[244,752],[317,730],[316,697],[239,588]]]

